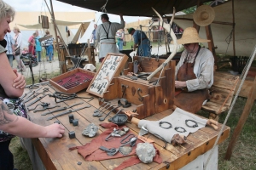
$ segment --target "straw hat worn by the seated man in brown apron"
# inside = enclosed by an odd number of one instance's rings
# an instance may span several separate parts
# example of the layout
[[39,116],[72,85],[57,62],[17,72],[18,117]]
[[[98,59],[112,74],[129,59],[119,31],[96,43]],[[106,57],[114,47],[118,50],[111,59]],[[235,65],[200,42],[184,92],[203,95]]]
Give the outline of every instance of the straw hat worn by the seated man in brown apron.
[[[210,42],[207,39],[201,39],[194,27],[188,27],[183,31],[183,37],[177,40],[178,44],[195,43],[195,42]],[[173,41],[172,41],[173,43]]]

